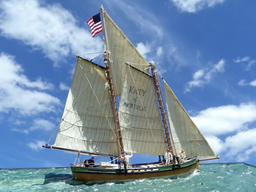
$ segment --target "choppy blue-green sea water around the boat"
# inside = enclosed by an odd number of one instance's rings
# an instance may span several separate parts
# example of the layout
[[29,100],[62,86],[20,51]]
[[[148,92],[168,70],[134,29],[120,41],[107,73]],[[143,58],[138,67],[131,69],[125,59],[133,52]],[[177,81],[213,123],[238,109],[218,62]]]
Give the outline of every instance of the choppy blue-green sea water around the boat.
[[256,167],[244,163],[200,164],[199,170],[186,178],[101,184],[74,180],[69,168],[0,169],[0,191],[256,192]]

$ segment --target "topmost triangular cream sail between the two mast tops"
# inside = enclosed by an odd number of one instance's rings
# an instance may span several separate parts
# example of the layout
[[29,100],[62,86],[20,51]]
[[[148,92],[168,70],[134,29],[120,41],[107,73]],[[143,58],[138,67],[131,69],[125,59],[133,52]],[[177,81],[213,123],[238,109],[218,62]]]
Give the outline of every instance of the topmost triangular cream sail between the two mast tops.
[[[124,82],[125,64],[130,62],[134,67],[143,70],[148,67],[147,61],[142,57],[134,45],[124,35],[124,33],[117,27],[114,21],[108,16],[107,12],[104,12],[103,17],[105,19],[105,32],[108,42],[108,48],[104,45],[105,51],[111,52],[111,58],[113,61],[113,82],[115,86],[115,94],[120,95]],[[149,69],[144,72],[149,73]]]

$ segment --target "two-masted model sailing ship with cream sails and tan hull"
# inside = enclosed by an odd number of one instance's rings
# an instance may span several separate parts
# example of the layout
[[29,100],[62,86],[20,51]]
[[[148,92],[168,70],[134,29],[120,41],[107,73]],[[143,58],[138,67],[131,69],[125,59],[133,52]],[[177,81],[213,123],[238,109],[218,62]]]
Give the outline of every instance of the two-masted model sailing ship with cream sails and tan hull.
[[[199,161],[219,158],[162,77],[163,97],[155,64],[142,57],[102,5],[100,12],[92,35],[103,31],[104,66],[76,55],[59,132],[53,145],[43,147],[77,153],[78,163],[70,164],[74,178],[93,182],[187,176]],[[163,156],[166,149],[175,156],[185,149],[189,158],[170,165],[122,164],[125,152]],[[121,164],[85,167],[80,154]]]

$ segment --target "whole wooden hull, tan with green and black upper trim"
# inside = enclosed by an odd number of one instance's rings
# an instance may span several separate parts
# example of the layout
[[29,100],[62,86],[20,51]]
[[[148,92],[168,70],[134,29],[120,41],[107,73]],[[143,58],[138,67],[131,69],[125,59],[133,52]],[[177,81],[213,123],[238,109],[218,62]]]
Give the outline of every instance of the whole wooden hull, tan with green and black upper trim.
[[77,180],[86,182],[109,182],[109,181],[130,181],[136,179],[160,179],[160,178],[177,178],[185,177],[198,169],[198,159],[181,164],[180,167],[172,167],[172,165],[152,167],[152,168],[132,168],[127,169],[100,169],[87,168],[70,165],[73,176]]

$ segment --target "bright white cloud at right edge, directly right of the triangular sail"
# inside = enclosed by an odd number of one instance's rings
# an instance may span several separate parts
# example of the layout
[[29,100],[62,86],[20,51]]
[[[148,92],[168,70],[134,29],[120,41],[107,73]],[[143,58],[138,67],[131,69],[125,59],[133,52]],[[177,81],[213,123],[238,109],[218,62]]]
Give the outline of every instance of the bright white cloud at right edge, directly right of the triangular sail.
[[244,131],[248,129],[248,123],[256,121],[256,104],[212,107],[191,118],[205,136]]

